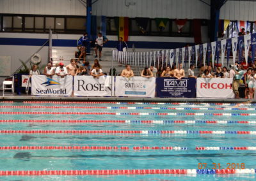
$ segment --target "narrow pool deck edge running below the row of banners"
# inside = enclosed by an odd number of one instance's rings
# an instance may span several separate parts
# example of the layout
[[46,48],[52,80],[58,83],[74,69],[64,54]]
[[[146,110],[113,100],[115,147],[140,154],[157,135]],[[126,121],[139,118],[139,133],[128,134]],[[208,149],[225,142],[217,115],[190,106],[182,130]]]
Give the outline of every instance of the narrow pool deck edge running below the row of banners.
[[[2,94],[0,94],[2,95]],[[134,98],[134,97],[77,97],[77,96],[0,96],[0,101],[136,101],[136,102],[193,102],[193,103],[243,103],[250,99],[225,99],[225,98]],[[256,103],[256,99],[251,100]]]

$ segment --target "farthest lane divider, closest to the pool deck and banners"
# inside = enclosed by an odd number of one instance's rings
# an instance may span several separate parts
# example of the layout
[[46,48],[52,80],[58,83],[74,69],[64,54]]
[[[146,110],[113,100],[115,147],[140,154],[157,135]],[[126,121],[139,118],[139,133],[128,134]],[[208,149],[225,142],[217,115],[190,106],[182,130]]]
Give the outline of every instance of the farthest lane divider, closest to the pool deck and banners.
[[55,105],[70,105],[70,104],[114,104],[114,105],[256,105],[256,103],[156,103],[156,102],[111,102],[111,101],[23,101],[24,104],[55,104]]

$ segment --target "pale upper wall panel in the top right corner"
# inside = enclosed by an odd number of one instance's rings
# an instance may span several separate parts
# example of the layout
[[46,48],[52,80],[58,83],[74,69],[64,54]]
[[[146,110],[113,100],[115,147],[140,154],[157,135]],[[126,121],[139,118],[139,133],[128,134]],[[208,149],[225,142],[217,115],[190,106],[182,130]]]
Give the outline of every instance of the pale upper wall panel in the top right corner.
[[255,21],[256,2],[228,0],[220,9],[220,19]]

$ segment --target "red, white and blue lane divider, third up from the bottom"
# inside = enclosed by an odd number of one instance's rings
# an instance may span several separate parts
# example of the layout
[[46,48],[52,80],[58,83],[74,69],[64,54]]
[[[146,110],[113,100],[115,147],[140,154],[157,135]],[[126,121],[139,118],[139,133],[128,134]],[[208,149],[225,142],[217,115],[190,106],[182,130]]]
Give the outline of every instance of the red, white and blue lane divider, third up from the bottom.
[[3,134],[256,134],[256,131],[0,130]]

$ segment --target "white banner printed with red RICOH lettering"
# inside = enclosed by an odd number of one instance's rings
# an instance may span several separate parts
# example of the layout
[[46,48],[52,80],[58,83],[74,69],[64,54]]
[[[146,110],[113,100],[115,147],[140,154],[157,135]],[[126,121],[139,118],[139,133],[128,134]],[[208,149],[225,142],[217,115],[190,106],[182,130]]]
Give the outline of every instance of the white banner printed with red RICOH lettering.
[[232,78],[197,78],[196,98],[234,98]]

